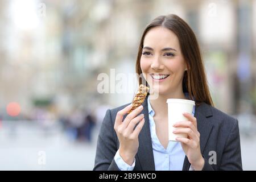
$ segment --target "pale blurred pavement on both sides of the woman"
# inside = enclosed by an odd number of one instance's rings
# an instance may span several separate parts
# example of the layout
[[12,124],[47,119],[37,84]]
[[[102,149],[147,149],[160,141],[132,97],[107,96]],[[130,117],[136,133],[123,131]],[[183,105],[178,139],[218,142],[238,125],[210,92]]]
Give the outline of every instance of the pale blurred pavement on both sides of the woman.
[[[46,135],[38,126],[20,123],[10,135],[8,127],[0,130],[0,170],[92,170],[96,153],[97,131],[93,143],[71,142],[56,130]],[[46,154],[46,164],[39,160]],[[241,134],[244,170],[256,170],[256,135]]]

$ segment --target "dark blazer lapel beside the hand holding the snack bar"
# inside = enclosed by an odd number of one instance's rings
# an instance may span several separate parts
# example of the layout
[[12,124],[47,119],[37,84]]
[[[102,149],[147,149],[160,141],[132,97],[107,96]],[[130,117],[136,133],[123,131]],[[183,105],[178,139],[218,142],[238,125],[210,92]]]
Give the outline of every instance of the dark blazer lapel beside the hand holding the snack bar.
[[155,171],[154,155],[148,119],[147,97],[142,104],[142,114],[144,114],[145,123],[142,127],[141,133],[139,134],[139,148],[137,155],[143,171]]

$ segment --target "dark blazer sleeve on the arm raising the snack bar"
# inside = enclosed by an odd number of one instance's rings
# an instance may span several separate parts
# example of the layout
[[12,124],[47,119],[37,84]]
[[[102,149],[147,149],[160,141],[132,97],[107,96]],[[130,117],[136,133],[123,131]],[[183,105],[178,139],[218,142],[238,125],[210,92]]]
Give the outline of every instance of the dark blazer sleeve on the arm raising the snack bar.
[[117,152],[117,141],[115,141],[114,133],[111,113],[110,110],[107,110],[98,135],[93,171],[119,170],[114,160]]

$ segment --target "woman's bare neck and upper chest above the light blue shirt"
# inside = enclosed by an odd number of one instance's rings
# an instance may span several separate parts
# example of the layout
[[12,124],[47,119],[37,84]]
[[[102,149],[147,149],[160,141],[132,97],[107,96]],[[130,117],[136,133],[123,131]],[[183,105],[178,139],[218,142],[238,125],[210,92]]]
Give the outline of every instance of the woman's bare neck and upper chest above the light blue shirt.
[[156,97],[154,94],[148,96],[148,99],[150,100],[150,105],[155,112],[154,117],[168,116],[168,107],[166,103],[168,98],[187,99],[183,92],[172,92],[168,95],[159,94],[158,97]]

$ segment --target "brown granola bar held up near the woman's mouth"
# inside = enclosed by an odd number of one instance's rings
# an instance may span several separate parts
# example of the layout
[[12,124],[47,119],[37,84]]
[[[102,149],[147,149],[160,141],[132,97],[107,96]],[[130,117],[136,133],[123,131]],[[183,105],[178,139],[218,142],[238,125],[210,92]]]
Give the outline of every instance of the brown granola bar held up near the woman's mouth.
[[149,90],[149,88],[147,86],[145,86],[143,84],[139,85],[138,92],[133,99],[133,107],[131,108],[130,111],[128,111],[128,114],[131,113],[133,110],[135,110],[140,105],[142,105],[142,103],[144,102],[144,100],[147,96],[148,90]]

